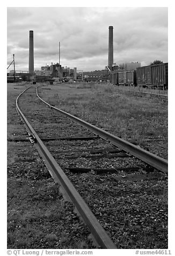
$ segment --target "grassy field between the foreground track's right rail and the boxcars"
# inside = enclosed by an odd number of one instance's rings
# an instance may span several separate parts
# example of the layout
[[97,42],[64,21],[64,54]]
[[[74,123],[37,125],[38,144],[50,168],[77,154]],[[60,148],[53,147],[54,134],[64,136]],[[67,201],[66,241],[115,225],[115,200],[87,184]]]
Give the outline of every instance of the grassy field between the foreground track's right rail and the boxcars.
[[[41,97],[115,136],[167,158],[167,102],[119,91],[112,84],[77,83],[39,89]],[[145,143],[157,139],[156,143]]]

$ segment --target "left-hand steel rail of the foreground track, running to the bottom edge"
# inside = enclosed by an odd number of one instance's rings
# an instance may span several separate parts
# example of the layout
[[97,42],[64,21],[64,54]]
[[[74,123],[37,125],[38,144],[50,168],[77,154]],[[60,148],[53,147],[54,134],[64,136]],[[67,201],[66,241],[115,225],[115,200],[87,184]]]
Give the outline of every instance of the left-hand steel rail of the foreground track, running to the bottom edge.
[[[30,87],[29,87],[30,88]],[[27,88],[27,89],[29,89]],[[21,112],[18,106],[18,99],[19,97],[27,90],[25,89],[16,99],[16,108],[21,117],[24,121],[27,130],[30,132],[31,136],[33,136],[35,140],[35,145],[39,148],[40,153],[42,153],[43,157],[47,160],[48,166],[51,169],[51,174],[54,177],[54,180],[61,184],[61,188],[66,195],[68,195],[74,203],[76,209],[78,210],[79,214],[83,218],[85,224],[89,227],[92,238],[95,239],[96,243],[101,246],[102,248],[106,249],[116,249],[113,241],[110,237],[108,237],[106,231],[103,229],[101,224],[98,222],[97,218],[93,215],[92,211],[89,209],[88,205],[84,202],[81,195],[79,195],[78,191],[72,185],[68,177],[65,175],[61,167],[53,158],[52,154],[48,151],[47,147],[42,143],[41,139],[39,138],[38,134],[35,132],[31,124],[28,122],[26,117],[24,116],[23,112]],[[49,170],[50,172],[50,170]]]

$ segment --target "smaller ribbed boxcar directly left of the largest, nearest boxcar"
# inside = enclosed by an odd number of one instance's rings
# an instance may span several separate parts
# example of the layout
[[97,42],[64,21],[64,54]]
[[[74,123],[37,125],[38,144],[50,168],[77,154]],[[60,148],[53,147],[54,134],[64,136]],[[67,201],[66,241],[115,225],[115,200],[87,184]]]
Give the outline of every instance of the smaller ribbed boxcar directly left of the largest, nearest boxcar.
[[118,72],[119,86],[136,86],[136,70],[121,70]]

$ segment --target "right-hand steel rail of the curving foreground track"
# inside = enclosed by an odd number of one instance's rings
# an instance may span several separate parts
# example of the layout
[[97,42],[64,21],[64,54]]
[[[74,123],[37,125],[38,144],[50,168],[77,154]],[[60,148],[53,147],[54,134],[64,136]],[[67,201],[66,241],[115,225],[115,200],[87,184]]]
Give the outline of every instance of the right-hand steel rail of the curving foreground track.
[[152,167],[157,168],[158,170],[161,170],[161,172],[167,173],[168,172],[168,162],[166,159],[163,159],[161,157],[158,157],[158,155],[152,154],[146,150],[143,150],[143,148],[138,147],[132,143],[129,143],[128,141],[121,139],[119,137],[114,136],[113,134],[106,132],[92,124],[89,124],[85,122],[84,120],[75,117],[71,115],[70,113],[67,113],[61,109],[55,108],[55,106],[50,105],[46,101],[44,101],[39,95],[38,95],[38,89],[36,88],[37,96],[38,98],[48,105],[50,108],[55,109],[56,111],[59,111],[63,115],[71,118],[76,123],[86,127],[88,130],[90,130],[92,133],[98,135],[100,138],[103,138],[105,140],[110,141],[111,144],[121,148],[122,150],[132,154],[134,157],[144,161],[145,163],[148,163]]

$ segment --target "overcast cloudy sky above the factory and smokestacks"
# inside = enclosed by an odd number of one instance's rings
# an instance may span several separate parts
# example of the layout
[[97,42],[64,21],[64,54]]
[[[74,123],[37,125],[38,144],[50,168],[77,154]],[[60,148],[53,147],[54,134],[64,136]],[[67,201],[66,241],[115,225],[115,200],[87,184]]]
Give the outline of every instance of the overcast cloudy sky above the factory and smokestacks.
[[[34,31],[34,69],[59,62],[77,70],[104,69],[108,27],[113,26],[114,62],[167,62],[167,8],[8,8],[8,64],[28,70],[29,31]],[[12,67],[9,68],[13,69]]]

